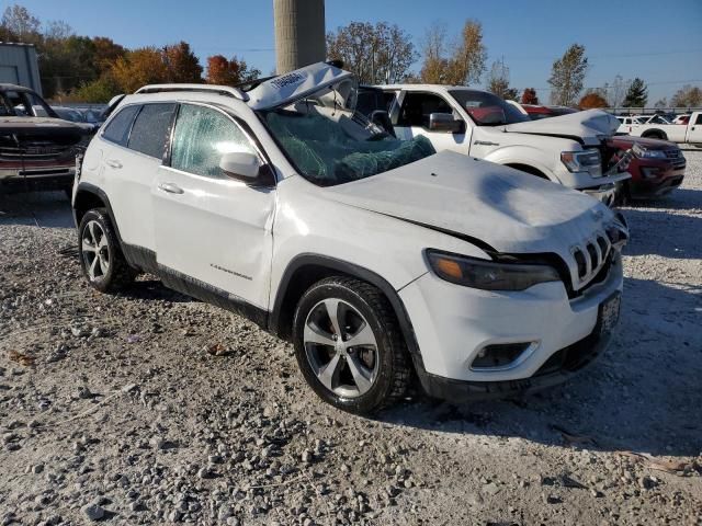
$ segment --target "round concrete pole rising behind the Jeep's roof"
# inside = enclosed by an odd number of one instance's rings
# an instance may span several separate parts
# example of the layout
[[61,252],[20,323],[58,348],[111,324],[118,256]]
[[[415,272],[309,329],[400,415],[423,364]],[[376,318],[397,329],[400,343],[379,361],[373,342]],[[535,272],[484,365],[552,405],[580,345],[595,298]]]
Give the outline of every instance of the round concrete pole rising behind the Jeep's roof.
[[325,0],[273,0],[279,75],[327,58]]

